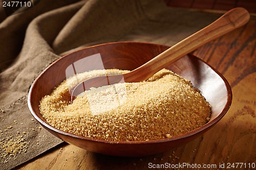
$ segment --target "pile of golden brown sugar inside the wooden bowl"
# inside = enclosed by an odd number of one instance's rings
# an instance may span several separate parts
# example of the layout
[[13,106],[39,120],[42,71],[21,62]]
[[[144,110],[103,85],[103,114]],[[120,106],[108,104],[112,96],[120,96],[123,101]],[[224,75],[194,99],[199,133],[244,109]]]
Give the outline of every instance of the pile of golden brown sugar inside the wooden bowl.
[[[70,102],[69,87],[75,85],[77,78],[82,82],[102,76],[105,71],[108,75],[128,72],[93,70],[69,78],[42,98],[40,113],[59,130],[109,141],[169,138],[199,128],[209,120],[211,106],[200,91],[167,69],[160,70],[144,82],[117,84],[116,89],[124,87],[125,92],[121,95],[125,98],[113,109],[96,107],[94,112],[89,102],[89,96],[93,101],[101,98],[109,102],[109,98],[102,96],[109,94],[109,88],[103,88],[103,92],[92,88],[88,95],[77,96],[73,103]],[[114,95],[118,98],[118,94]]]

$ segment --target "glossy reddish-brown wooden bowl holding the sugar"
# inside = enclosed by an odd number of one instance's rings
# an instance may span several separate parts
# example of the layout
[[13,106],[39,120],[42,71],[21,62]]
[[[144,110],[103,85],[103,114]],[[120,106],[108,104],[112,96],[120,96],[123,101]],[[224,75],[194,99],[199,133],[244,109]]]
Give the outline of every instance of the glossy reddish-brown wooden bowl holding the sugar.
[[66,55],[49,65],[36,78],[29,90],[29,109],[41,126],[53,135],[88,151],[114,156],[146,156],[177,148],[216,125],[225,115],[232,101],[232,92],[227,80],[216,69],[190,54],[166,68],[190,80],[196,88],[200,89],[212,106],[212,110],[207,124],[186,134],[150,141],[113,142],[91,139],[52,127],[42,117],[38,107],[41,98],[66,79],[65,70],[75,61],[100,53],[105,68],[133,70],[167,48],[168,46],[165,45],[151,43],[114,42],[91,46]]

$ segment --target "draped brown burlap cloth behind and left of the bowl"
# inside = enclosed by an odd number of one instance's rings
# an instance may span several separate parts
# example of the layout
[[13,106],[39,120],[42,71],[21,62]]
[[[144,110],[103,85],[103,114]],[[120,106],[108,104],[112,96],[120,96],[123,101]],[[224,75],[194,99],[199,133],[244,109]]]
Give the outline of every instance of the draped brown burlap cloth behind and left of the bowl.
[[219,16],[169,8],[156,0],[41,0],[7,17],[0,24],[0,137],[3,143],[22,136],[27,149],[0,158],[0,168],[13,168],[62,142],[41,128],[27,107],[30,85],[54,60],[104,42],[173,45]]

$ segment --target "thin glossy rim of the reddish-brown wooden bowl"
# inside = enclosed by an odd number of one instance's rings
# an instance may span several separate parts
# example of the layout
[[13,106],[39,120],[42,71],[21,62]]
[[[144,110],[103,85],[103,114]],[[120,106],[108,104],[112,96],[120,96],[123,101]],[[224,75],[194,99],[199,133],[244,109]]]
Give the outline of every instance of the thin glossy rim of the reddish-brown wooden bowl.
[[[93,45],[93,46],[89,46],[89,47],[86,47],[86,48],[82,48],[81,50],[78,50],[78,51],[75,51],[75,52],[72,52],[70,54],[73,54],[73,53],[76,53],[76,52],[79,52],[79,51],[82,51],[82,50],[85,50],[87,48],[91,48],[91,47],[97,47],[97,46],[101,46],[101,45],[106,45],[106,44],[114,44],[114,43],[142,43],[142,44],[150,44],[150,45],[159,45],[159,44],[154,44],[154,43],[145,43],[145,42],[133,42],[133,41],[122,41],[122,42],[110,42],[110,43],[103,43],[103,44],[99,44],[99,45]],[[166,45],[161,45],[161,46],[166,46]],[[166,46],[168,47],[168,46]],[[68,55],[70,55],[68,54]],[[210,66],[209,64],[207,64],[206,62],[204,62],[203,60],[201,60],[200,58],[194,56],[194,55],[191,55],[191,54],[188,54],[188,56],[193,56],[193,57],[196,57],[198,60],[200,60],[201,62],[203,62],[204,64],[206,64],[207,66],[209,66],[212,70],[214,70],[216,72],[216,74],[218,74],[220,76],[220,78],[224,81],[225,83],[225,86],[226,86],[226,89],[227,89],[227,102],[225,104],[225,107],[223,108],[222,112],[217,116],[215,117],[214,119],[212,120],[209,120],[208,123],[206,123],[205,125],[195,129],[195,130],[192,130],[190,132],[187,132],[185,134],[181,134],[181,135],[178,135],[178,136],[173,136],[173,137],[170,137],[170,138],[164,138],[164,139],[156,139],[156,140],[148,140],[148,141],[108,141],[108,140],[102,140],[102,139],[94,139],[94,138],[88,138],[88,137],[83,137],[83,136],[78,136],[78,135],[74,135],[74,134],[71,134],[71,133],[68,133],[68,132],[64,132],[64,131],[61,131],[59,129],[56,129],[54,128],[53,126],[49,125],[44,119],[42,119],[40,116],[38,116],[38,114],[40,113],[36,113],[36,111],[34,110],[34,108],[32,107],[32,101],[31,101],[31,96],[33,95],[33,90],[34,90],[34,86],[35,86],[35,83],[37,82],[38,79],[40,79],[40,77],[42,75],[44,75],[44,73],[47,71],[48,68],[50,68],[52,65],[54,65],[55,63],[57,63],[59,60],[67,57],[68,55],[65,55],[61,58],[59,58],[58,60],[54,61],[53,63],[51,63],[48,67],[46,67],[40,74],[39,76],[34,80],[34,82],[32,83],[31,87],[30,87],[30,90],[29,90],[29,93],[28,93],[28,107],[29,107],[29,110],[31,112],[31,114],[34,116],[34,118],[43,126],[43,127],[46,127],[54,132],[57,132],[57,133],[60,133],[62,135],[67,135],[67,136],[70,136],[70,137],[74,137],[74,138],[79,138],[79,139],[84,139],[84,140],[89,140],[89,141],[95,141],[95,142],[103,142],[103,143],[110,143],[110,144],[142,144],[142,143],[160,143],[160,142],[167,142],[167,141],[173,141],[173,140],[177,140],[177,139],[181,139],[181,138],[186,138],[188,136],[192,136],[194,134],[197,134],[201,131],[204,131],[204,130],[209,130],[212,125],[216,124],[219,122],[219,120],[226,114],[226,112],[228,111],[228,109],[230,108],[231,106],[231,103],[232,103],[232,92],[231,92],[231,87],[228,83],[228,81],[224,78],[223,75],[220,74],[220,72],[218,70],[216,70],[214,67]]]

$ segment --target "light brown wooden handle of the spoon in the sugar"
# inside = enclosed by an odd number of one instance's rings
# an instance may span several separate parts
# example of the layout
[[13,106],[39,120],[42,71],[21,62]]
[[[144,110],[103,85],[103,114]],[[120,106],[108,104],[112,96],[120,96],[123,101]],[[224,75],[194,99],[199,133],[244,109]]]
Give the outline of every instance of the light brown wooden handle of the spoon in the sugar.
[[125,82],[147,80],[162,68],[193,52],[201,45],[245,25],[249,18],[250,15],[244,8],[234,8],[226,12],[209,26],[168,48],[129,74],[124,75]]

